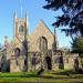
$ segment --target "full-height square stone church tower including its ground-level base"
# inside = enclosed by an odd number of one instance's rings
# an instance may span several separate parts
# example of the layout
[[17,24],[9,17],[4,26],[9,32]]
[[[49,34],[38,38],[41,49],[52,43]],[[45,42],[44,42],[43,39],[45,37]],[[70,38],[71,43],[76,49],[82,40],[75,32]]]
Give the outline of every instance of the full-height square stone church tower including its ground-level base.
[[18,18],[14,13],[13,27],[13,55],[10,60],[10,72],[28,71],[28,20]]

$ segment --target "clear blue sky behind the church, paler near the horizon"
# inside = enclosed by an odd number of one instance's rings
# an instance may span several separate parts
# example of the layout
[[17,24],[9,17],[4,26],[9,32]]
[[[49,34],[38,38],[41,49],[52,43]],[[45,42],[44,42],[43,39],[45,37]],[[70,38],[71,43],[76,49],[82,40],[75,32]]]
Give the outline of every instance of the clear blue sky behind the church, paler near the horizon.
[[[30,34],[34,31],[41,19],[53,32],[52,23],[55,21],[54,17],[61,15],[62,11],[43,9],[44,4],[46,4],[45,0],[0,0],[0,43],[3,44],[4,35],[9,37],[9,40],[13,38],[14,12],[17,12],[18,17],[24,17],[24,13],[28,13]],[[56,29],[56,37],[59,48],[71,46],[71,38],[65,37],[65,33],[61,32],[60,29]]]

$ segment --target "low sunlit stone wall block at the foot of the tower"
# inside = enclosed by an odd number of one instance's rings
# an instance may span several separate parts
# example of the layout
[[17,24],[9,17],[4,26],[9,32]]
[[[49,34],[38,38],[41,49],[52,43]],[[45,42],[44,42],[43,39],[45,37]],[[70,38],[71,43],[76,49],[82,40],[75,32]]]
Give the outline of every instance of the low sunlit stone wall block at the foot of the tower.
[[10,72],[23,72],[24,71],[25,56],[20,55],[19,58],[12,56],[10,59]]

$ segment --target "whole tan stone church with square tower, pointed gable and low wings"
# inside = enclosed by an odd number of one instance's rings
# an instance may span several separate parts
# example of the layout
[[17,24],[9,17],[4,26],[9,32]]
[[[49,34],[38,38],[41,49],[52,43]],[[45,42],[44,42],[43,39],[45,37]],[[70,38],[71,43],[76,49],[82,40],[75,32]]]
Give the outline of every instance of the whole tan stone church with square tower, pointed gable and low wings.
[[58,50],[56,35],[52,33],[43,20],[39,22],[32,34],[29,34],[27,14],[24,18],[19,18],[14,13],[13,22],[13,40],[9,43],[6,39],[2,50],[6,54],[0,58],[2,70],[25,72],[41,68],[54,71],[74,68],[74,60],[79,55]]

